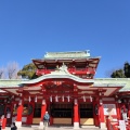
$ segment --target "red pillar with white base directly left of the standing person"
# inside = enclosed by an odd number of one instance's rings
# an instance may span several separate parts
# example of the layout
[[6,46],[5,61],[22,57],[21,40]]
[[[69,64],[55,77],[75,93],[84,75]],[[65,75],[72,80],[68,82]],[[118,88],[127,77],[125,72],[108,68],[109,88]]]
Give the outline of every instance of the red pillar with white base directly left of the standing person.
[[43,129],[43,116],[46,114],[46,110],[47,110],[47,103],[46,103],[46,100],[42,100],[42,105],[41,105],[41,121],[40,121],[40,125],[39,125],[39,129]]

